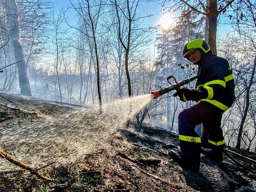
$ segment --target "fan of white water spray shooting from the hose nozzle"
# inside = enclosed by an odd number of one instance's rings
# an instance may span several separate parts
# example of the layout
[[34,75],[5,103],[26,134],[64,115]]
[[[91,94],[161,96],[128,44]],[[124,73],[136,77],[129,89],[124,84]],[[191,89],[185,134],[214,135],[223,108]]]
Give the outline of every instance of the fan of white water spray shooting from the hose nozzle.
[[[108,136],[122,129],[152,99],[152,94],[146,94],[102,103],[101,113],[95,105],[5,121],[0,124],[0,147],[30,167],[74,164],[84,154],[107,148]],[[1,157],[0,153],[0,172],[14,168]]]

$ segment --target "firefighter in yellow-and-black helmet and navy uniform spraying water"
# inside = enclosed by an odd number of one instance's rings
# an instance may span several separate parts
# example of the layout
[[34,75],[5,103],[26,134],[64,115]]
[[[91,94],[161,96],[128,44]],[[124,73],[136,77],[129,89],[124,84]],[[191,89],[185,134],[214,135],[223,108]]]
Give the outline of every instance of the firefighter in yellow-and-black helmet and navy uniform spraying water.
[[211,53],[203,39],[185,44],[183,58],[198,66],[200,78],[196,89],[182,88],[174,93],[183,102],[196,101],[196,104],[182,110],[178,117],[182,164],[194,171],[199,171],[201,151],[196,125],[203,124],[208,132],[207,145],[212,148],[212,156],[222,162],[225,139],[220,127],[221,118],[235,100],[235,83],[228,61]]

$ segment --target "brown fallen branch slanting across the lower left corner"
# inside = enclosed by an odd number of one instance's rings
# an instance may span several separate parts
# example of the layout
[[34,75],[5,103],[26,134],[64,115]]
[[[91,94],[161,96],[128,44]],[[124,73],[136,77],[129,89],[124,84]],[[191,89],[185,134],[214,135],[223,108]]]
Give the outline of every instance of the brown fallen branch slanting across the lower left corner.
[[48,177],[44,177],[42,174],[37,172],[37,169],[28,166],[27,164],[12,158],[12,156],[10,156],[9,154],[5,153],[2,148],[0,147],[0,157],[6,159],[7,161],[11,162],[12,164],[15,164],[27,171],[29,171],[32,175],[36,175],[39,179],[43,179],[43,180],[47,180],[47,181],[53,181],[54,179],[48,178]]

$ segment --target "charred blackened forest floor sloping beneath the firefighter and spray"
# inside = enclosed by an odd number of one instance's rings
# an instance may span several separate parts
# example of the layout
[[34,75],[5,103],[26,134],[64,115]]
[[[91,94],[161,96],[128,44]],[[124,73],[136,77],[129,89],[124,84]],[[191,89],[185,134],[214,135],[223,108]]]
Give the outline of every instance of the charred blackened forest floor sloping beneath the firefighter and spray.
[[[0,98],[0,136],[12,121],[22,124],[45,115],[61,116],[80,107],[0,95],[5,98]],[[200,171],[195,173],[174,162],[170,149],[179,151],[176,134],[146,125],[138,128],[132,123],[129,129],[110,135],[96,152],[77,158],[75,163],[54,163],[39,171],[55,181],[39,179],[0,159],[0,164],[10,166],[7,171],[0,169],[0,191],[256,191],[255,153],[227,148],[228,156],[224,155],[222,163],[202,154]],[[12,155],[12,151],[8,153]]]

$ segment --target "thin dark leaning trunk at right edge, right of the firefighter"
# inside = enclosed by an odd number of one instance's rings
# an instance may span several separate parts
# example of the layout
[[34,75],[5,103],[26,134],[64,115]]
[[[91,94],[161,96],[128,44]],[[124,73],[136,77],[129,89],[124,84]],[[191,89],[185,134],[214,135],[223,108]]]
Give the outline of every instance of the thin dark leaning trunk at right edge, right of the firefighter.
[[241,147],[241,139],[242,139],[242,132],[243,132],[243,128],[244,128],[244,122],[245,119],[247,117],[247,112],[250,106],[250,89],[253,83],[253,77],[254,77],[254,73],[255,73],[255,67],[256,67],[256,53],[255,53],[255,57],[254,57],[254,63],[253,63],[253,68],[252,68],[252,76],[250,78],[250,82],[249,85],[246,89],[246,101],[245,101],[245,109],[244,109],[244,115],[242,117],[241,123],[240,123],[240,127],[239,127],[239,132],[238,132],[238,136],[237,136],[237,143],[236,143],[236,148],[240,149]]

